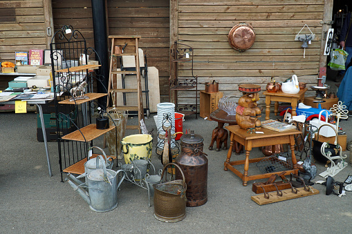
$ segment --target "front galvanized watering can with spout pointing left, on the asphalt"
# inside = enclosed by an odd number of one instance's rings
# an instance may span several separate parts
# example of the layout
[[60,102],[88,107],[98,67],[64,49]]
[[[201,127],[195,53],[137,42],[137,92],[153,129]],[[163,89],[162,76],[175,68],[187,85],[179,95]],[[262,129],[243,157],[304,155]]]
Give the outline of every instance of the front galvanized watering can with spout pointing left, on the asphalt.
[[[100,162],[103,164],[102,168],[99,167]],[[88,195],[86,194],[86,191],[79,188],[82,185],[82,182],[77,179],[78,177],[76,178],[73,175],[68,175],[68,177],[80,185],[77,186],[70,179],[68,179],[68,183],[89,204],[89,208],[91,208],[92,211],[111,211],[118,206],[117,191],[124,180],[125,175],[120,182],[117,183],[117,175],[123,170],[115,171],[106,169],[102,155],[98,155],[96,158],[96,165],[96,169],[86,175],[88,181]]]

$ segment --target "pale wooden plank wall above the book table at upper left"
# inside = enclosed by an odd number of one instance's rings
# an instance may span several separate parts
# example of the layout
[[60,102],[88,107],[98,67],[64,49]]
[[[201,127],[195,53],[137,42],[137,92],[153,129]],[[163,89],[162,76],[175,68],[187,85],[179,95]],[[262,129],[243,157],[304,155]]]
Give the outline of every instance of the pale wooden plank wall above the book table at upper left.
[[46,49],[43,1],[0,1],[0,62],[35,49]]

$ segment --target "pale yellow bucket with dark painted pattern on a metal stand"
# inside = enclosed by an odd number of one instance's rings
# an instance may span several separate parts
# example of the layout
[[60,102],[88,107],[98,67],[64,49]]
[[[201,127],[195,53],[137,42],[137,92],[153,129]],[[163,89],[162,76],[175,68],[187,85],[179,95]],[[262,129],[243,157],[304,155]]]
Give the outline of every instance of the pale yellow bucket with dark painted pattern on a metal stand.
[[124,137],[121,142],[121,152],[124,162],[130,164],[135,159],[150,159],[153,138],[148,134],[134,134]]

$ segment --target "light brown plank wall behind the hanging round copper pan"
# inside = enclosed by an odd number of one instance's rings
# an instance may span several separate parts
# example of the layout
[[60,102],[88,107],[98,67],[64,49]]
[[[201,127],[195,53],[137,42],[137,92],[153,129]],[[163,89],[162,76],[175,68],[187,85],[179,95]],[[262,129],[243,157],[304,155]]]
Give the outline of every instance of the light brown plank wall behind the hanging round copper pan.
[[[259,84],[264,90],[272,76],[284,81],[295,74],[299,81],[316,84],[323,13],[324,0],[178,0],[178,41],[194,48],[198,81],[216,79],[224,95],[240,97],[239,84]],[[228,44],[228,32],[240,22],[257,34],[246,52]],[[302,42],[294,41],[304,24],[315,33],[305,58]],[[179,77],[190,77],[190,64],[178,68]],[[178,92],[180,104],[192,102],[192,97],[192,92]]]

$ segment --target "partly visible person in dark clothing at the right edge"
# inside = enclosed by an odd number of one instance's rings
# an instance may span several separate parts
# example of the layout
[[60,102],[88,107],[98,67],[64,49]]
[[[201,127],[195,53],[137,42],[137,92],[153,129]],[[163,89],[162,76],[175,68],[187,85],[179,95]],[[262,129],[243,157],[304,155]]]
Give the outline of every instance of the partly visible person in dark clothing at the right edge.
[[[347,14],[347,17],[344,20],[344,24],[342,26],[340,38],[339,38],[340,47],[349,53],[349,55],[347,56],[347,59],[346,59],[346,64],[345,64],[346,70],[347,70],[347,66],[349,65],[349,63],[351,61],[351,57],[352,57],[352,30],[350,29],[350,22],[351,22],[351,12],[349,12],[349,14]],[[350,33],[348,33],[349,31],[350,31]],[[338,72],[337,77],[335,77],[336,82],[340,81],[344,77],[346,70],[340,70]]]

